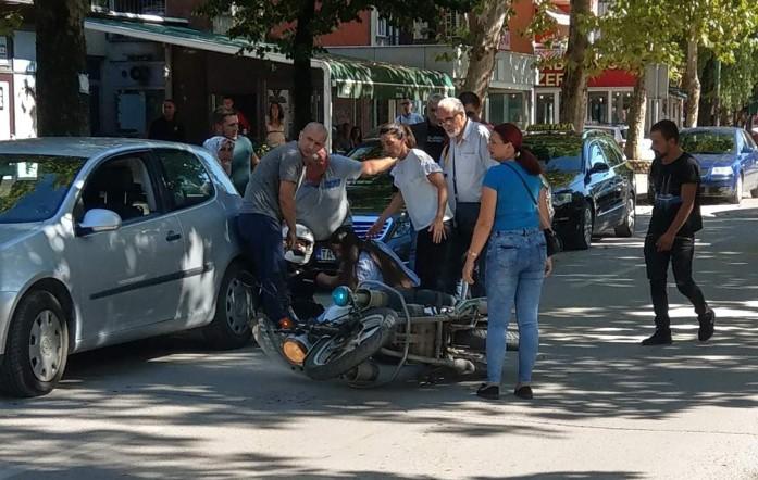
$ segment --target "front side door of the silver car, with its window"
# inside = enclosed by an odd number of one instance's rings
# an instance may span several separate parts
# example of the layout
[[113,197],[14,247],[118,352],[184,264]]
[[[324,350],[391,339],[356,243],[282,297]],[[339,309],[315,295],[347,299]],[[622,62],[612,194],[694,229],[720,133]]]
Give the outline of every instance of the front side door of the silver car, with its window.
[[125,154],[101,163],[82,191],[77,222],[91,209],[122,216],[114,231],[77,238],[80,338],[97,345],[114,333],[174,318],[184,239],[176,215],[161,207],[151,172],[147,152]]

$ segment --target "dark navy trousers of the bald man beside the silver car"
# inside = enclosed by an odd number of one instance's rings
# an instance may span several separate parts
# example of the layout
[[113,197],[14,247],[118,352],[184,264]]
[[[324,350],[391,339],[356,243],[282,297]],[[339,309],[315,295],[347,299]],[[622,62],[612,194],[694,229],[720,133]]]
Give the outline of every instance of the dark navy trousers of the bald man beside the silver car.
[[277,324],[289,316],[287,261],[284,260],[282,226],[268,215],[241,214],[237,219],[237,228],[245,252],[256,264],[263,310],[269,319]]

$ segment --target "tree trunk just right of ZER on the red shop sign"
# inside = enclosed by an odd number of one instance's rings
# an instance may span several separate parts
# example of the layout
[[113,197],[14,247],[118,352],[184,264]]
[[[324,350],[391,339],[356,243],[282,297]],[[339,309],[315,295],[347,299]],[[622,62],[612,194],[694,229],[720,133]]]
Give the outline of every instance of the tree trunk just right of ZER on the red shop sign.
[[574,124],[576,131],[584,129],[587,113],[587,73],[584,58],[589,37],[580,25],[580,16],[589,14],[591,0],[571,0],[569,47],[566,51],[566,75],[561,86],[560,121]]

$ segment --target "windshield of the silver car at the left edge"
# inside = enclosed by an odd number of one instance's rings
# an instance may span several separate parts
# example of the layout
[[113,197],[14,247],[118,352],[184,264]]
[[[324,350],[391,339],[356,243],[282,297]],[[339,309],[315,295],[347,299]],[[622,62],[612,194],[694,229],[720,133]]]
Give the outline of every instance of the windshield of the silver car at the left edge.
[[0,224],[53,216],[85,162],[77,156],[0,154]]

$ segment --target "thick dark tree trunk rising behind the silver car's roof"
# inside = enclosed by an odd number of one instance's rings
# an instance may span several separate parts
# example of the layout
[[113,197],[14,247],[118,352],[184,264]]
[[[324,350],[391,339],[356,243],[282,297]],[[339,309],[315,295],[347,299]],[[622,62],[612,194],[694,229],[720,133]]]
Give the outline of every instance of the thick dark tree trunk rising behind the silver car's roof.
[[86,0],[35,0],[37,33],[37,135],[89,135],[89,94],[79,92],[87,73]]

